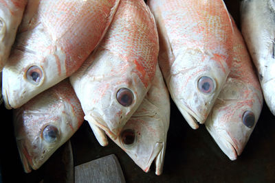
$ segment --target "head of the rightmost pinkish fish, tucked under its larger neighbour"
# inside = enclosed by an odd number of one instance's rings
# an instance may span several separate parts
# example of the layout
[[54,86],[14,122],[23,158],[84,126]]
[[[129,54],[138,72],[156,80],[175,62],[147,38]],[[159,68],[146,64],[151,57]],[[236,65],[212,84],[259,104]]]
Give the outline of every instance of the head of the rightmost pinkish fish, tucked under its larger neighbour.
[[222,151],[236,160],[259,119],[261,90],[229,78],[206,120],[206,128]]

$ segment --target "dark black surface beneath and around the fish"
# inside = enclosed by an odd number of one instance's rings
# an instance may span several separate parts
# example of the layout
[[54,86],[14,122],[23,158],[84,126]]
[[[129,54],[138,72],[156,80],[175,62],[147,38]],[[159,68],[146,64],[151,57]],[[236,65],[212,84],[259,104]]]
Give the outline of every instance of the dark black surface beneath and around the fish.
[[[228,0],[225,3],[239,25],[239,1]],[[47,163],[37,171],[23,173],[13,134],[12,111],[5,110],[2,105],[0,113],[0,177],[2,174],[3,182],[39,182],[45,176],[50,176]],[[155,175],[153,165],[150,172],[144,173],[110,139],[107,147],[101,147],[87,122],[83,123],[71,141],[75,165],[115,154],[126,182],[275,182],[275,117],[265,103],[243,154],[231,161],[219,149],[204,125],[192,130],[171,101],[164,172],[159,176]]]

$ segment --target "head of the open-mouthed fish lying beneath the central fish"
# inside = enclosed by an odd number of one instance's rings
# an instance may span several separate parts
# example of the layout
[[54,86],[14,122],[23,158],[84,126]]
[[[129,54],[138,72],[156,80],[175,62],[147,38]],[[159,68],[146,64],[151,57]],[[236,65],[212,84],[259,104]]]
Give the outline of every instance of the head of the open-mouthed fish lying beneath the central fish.
[[157,107],[144,99],[118,138],[112,140],[145,172],[149,171],[155,160],[155,173],[160,175],[166,148],[167,122]]

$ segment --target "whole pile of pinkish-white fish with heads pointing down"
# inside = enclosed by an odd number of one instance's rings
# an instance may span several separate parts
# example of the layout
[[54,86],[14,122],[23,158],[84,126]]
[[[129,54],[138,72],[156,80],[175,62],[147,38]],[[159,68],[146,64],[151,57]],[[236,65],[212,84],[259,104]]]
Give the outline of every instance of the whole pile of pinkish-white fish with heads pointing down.
[[0,1],[2,95],[14,108],[25,172],[86,120],[100,145],[109,136],[145,172],[155,160],[160,175],[169,93],[190,127],[205,124],[236,160],[259,119],[262,89],[275,114],[274,8],[270,0],[241,6],[260,84],[222,0]]

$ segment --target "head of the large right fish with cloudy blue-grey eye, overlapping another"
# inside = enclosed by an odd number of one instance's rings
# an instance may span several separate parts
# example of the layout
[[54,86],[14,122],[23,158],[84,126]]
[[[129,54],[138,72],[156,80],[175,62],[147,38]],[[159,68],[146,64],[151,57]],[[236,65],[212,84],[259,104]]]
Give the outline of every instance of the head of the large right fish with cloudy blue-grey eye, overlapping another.
[[[189,125],[196,129],[204,123],[225,83],[230,70],[224,56],[202,51],[183,49],[175,57],[168,79],[168,88]],[[198,60],[200,60],[198,62]]]

